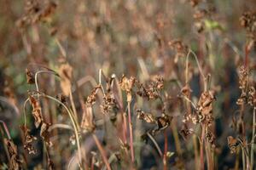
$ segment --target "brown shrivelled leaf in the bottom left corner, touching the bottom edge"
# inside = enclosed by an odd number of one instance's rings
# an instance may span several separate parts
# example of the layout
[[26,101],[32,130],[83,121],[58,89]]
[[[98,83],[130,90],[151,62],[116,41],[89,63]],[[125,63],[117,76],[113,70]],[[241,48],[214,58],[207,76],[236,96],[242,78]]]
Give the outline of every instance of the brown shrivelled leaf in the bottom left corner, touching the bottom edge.
[[7,146],[9,152],[9,169],[10,170],[19,170],[21,169],[21,161],[18,156],[17,146],[10,139],[4,139],[4,144]]

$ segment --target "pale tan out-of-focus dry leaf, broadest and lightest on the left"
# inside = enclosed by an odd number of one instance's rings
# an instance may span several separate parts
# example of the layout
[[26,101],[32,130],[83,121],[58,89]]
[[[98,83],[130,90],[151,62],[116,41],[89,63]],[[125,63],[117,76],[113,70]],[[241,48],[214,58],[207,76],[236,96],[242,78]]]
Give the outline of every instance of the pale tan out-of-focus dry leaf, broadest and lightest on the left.
[[64,95],[68,96],[71,90],[71,78],[73,74],[73,68],[71,65],[62,64],[59,68],[59,74],[61,77],[61,90]]

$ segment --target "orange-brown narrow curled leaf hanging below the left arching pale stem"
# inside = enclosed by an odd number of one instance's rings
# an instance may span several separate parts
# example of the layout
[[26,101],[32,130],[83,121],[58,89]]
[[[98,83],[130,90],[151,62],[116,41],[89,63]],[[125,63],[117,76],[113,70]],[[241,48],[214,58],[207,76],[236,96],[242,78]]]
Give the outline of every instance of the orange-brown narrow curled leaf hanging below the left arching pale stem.
[[38,128],[41,122],[43,122],[44,120],[42,116],[42,109],[38,99],[35,99],[34,97],[32,97],[32,95],[30,95],[29,100],[32,105],[32,116],[35,119],[35,126]]

